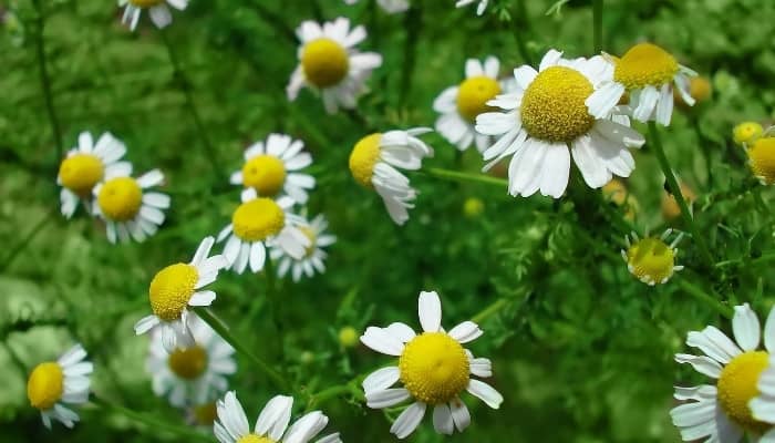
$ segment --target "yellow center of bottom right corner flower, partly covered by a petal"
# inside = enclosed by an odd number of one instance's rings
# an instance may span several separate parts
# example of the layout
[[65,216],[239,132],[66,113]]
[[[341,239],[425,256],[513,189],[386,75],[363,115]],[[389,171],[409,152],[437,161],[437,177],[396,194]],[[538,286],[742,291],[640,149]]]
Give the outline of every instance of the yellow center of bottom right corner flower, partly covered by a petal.
[[757,434],[762,434],[771,425],[753,418],[748,402],[760,393],[756,383],[758,375],[767,367],[767,359],[768,356],[764,351],[744,352],[726,363],[716,383],[719,404],[726,415],[743,429]]

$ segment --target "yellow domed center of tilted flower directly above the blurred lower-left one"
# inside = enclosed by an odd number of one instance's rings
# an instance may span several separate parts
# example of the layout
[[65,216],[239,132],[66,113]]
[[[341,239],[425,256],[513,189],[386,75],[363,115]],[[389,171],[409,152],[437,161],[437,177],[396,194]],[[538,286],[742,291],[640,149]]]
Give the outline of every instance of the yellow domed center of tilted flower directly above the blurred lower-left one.
[[154,315],[164,321],[179,319],[198,279],[199,272],[192,265],[179,262],[159,270],[148,288]]

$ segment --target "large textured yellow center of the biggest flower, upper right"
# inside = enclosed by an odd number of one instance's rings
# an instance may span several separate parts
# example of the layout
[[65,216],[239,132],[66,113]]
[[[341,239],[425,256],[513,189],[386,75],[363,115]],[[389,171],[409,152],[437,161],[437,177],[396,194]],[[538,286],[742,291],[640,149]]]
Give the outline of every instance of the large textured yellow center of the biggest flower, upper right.
[[589,80],[574,69],[551,66],[541,71],[523,95],[523,126],[535,138],[572,142],[595,125],[585,104],[592,91]]

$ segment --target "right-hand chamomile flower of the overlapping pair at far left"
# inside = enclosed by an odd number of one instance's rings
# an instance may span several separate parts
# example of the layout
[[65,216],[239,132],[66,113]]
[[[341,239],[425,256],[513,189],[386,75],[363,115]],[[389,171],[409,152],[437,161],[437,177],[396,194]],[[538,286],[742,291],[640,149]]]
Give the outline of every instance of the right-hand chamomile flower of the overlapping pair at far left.
[[169,196],[145,189],[164,182],[158,169],[132,178],[128,171],[114,169],[105,181],[94,187],[96,204],[94,215],[105,220],[107,240],[111,243],[144,241],[164,223],[164,212],[169,207]]

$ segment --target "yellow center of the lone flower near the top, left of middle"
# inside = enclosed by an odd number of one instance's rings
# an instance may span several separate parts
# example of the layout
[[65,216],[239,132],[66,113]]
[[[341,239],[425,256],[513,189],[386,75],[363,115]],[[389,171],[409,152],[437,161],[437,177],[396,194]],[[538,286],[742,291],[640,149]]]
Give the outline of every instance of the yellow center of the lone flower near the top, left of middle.
[[304,78],[318,87],[339,83],[348,74],[350,59],[341,44],[327,38],[313,40],[301,52]]

